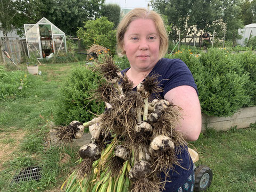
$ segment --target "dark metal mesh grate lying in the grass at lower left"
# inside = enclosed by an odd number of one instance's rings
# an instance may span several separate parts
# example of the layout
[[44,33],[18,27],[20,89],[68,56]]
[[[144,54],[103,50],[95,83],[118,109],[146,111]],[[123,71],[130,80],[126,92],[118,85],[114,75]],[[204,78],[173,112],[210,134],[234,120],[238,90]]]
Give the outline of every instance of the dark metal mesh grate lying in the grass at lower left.
[[12,182],[28,181],[28,180],[40,180],[42,178],[42,168],[39,166],[29,166],[28,168],[16,174],[12,179]]

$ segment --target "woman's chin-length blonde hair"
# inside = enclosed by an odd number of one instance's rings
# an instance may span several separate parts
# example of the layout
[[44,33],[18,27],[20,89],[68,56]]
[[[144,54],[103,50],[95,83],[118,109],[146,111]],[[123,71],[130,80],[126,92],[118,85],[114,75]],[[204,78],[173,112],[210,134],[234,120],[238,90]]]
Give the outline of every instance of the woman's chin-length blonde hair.
[[118,48],[121,50],[122,54],[125,54],[125,51],[123,50],[123,38],[131,21],[136,19],[151,19],[154,21],[156,30],[158,31],[160,37],[159,59],[161,59],[166,54],[168,49],[168,35],[161,16],[152,10],[135,8],[125,15],[117,28]]

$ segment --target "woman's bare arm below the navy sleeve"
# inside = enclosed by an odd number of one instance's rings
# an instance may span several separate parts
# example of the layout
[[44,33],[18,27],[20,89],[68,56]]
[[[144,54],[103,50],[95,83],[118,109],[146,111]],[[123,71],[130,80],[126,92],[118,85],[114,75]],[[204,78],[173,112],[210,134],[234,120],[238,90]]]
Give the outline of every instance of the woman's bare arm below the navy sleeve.
[[197,140],[201,132],[202,118],[196,90],[191,86],[179,86],[169,90],[164,98],[183,108],[183,119],[176,130],[183,132],[186,140]]

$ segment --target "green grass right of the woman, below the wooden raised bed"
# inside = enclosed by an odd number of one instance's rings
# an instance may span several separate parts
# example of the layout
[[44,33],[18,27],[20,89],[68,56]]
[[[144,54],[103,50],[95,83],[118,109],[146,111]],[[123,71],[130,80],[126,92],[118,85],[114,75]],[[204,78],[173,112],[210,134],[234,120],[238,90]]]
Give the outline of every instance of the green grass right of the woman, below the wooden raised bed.
[[208,130],[193,146],[199,152],[196,165],[212,169],[213,181],[208,191],[255,191],[256,127]]

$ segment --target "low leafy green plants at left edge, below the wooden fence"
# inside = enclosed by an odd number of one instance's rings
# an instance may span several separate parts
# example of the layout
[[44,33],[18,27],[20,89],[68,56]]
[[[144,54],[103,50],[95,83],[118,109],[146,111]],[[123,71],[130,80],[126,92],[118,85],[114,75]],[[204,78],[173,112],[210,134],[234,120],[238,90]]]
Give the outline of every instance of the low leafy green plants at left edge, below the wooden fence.
[[0,100],[26,96],[30,81],[30,75],[25,72],[6,71],[0,65]]

